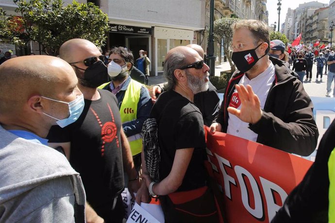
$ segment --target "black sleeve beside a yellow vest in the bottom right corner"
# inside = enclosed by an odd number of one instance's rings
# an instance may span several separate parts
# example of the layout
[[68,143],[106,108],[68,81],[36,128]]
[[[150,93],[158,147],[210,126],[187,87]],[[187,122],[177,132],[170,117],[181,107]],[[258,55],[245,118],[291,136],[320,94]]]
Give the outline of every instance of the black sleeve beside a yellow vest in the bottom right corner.
[[315,162],[303,177],[301,183],[288,195],[281,209],[271,223],[282,222],[324,222],[328,223],[330,184],[328,163],[335,147],[335,121],[323,135],[318,146]]

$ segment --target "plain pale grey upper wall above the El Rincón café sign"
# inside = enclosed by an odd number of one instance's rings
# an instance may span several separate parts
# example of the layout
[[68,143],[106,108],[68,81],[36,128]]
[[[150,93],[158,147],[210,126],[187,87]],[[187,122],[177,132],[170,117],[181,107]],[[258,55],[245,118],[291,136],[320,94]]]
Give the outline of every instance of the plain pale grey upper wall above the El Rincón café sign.
[[[204,0],[108,0],[111,20],[184,29],[204,28]],[[187,12],[187,13],[186,13]]]

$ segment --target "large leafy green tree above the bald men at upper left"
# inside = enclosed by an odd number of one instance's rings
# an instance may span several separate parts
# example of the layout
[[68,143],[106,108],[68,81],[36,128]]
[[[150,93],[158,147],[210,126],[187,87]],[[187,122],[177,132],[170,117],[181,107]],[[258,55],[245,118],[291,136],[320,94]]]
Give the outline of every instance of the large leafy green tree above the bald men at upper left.
[[[14,0],[23,29],[9,36],[12,42],[38,42],[48,55],[57,55],[60,46],[69,39],[83,38],[102,46],[109,31],[108,16],[91,2],[64,6],[62,0]],[[12,19],[13,20],[13,19]]]

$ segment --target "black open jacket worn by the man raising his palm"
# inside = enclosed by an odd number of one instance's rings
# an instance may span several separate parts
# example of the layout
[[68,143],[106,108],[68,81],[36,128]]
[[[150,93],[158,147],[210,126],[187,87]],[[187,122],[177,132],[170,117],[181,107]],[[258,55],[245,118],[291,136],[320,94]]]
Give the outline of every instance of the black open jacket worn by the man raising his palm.
[[[275,80],[266,99],[261,119],[249,128],[258,134],[257,143],[262,143],[288,153],[310,155],[318,143],[318,128],[313,117],[313,104],[295,72],[283,61],[270,57],[275,66]],[[214,122],[227,132],[229,102],[235,84],[244,73],[236,70],[229,80],[220,111]]]

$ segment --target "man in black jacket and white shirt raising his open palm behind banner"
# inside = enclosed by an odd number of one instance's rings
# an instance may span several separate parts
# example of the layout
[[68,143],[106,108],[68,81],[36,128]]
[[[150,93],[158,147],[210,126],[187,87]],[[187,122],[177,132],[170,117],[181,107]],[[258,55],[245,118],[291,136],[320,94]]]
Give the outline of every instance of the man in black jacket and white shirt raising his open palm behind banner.
[[310,155],[318,142],[313,104],[283,61],[268,56],[268,26],[259,20],[234,24],[229,80],[211,131],[223,131],[288,153]]

